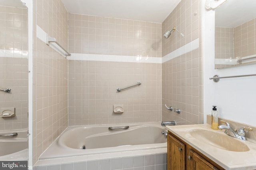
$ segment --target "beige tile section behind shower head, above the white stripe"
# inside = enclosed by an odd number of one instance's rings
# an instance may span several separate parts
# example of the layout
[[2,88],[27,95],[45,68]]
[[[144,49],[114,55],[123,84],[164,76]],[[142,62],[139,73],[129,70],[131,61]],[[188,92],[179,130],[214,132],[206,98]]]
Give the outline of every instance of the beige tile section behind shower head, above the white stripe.
[[181,0],[162,23],[162,32],[172,30],[168,39],[162,39],[162,57],[198,39],[200,25],[200,0]]

